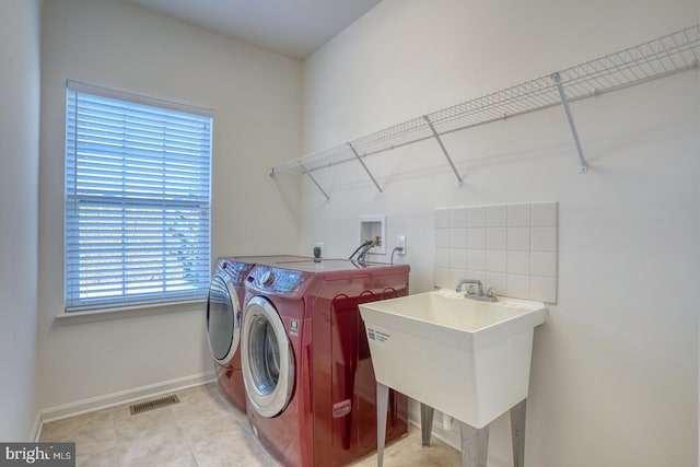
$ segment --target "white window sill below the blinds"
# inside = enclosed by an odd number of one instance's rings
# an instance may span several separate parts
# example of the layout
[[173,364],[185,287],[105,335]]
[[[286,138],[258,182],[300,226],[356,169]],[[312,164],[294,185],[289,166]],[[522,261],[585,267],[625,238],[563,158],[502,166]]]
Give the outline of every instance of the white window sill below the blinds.
[[154,303],[150,305],[121,306],[88,312],[70,312],[56,315],[56,320],[61,325],[77,325],[83,323],[106,322],[110,319],[133,318],[139,316],[153,316],[164,313],[201,312],[207,306],[202,299],[187,300],[171,303]]

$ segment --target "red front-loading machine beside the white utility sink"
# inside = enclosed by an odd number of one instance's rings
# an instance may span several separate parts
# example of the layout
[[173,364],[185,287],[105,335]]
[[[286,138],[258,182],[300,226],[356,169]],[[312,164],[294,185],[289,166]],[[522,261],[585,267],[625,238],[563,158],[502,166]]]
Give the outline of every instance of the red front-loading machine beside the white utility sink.
[[[258,264],[246,281],[241,353],[247,415],[284,466],[342,466],[376,450],[376,381],[359,303],[408,293],[407,265]],[[408,430],[392,392],[386,439]]]

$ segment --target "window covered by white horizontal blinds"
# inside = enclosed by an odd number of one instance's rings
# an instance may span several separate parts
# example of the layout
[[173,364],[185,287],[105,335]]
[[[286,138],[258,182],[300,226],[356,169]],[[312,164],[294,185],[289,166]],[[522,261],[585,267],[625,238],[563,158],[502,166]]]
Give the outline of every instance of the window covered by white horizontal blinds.
[[203,297],[211,113],[68,82],[66,311]]

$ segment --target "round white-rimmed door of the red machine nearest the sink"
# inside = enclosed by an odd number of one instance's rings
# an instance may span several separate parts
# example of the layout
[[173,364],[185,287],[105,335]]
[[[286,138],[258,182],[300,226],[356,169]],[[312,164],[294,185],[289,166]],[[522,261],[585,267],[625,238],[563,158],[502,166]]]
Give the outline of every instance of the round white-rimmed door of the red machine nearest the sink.
[[279,415],[294,389],[294,354],[275,305],[248,300],[243,316],[243,382],[248,401],[262,417]]

